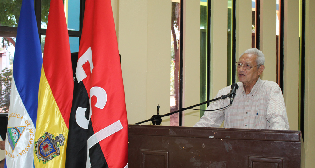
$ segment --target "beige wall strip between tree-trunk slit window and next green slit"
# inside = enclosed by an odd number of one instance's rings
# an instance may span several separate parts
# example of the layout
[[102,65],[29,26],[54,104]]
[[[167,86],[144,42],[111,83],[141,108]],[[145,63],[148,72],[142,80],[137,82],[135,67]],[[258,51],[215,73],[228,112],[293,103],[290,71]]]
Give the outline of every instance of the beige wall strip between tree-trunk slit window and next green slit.
[[[184,2],[184,40],[183,40],[183,107],[198,104],[200,67],[200,2]],[[183,126],[193,126],[200,117],[199,111],[186,110]]]

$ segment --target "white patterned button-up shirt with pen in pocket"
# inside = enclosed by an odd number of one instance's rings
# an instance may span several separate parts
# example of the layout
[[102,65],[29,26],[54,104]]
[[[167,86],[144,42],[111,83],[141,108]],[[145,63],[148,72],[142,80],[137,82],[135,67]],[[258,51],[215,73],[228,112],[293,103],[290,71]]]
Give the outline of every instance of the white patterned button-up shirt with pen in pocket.
[[[243,83],[238,82],[238,90],[232,105],[223,110],[205,111],[197,127],[220,127],[224,120],[224,128],[289,130],[288,116],[284,99],[277,83],[261,80],[249,94],[245,94]],[[227,86],[215,96],[221,97],[231,90]],[[207,110],[219,109],[230,104],[230,99],[211,102]]]

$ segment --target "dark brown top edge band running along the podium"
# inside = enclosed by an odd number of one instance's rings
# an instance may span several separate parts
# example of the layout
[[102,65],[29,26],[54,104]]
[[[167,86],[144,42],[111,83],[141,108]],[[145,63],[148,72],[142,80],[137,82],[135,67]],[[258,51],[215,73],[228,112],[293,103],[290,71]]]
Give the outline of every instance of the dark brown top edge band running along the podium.
[[286,142],[301,142],[302,137],[301,131],[298,130],[257,130],[156,125],[128,125],[128,134]]

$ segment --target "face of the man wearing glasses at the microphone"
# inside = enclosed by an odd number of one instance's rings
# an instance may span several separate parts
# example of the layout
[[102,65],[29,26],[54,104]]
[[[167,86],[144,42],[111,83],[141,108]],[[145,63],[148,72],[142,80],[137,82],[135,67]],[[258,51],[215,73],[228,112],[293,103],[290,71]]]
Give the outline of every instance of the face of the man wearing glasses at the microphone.
[[239,63],[243,65],[247,64],[252,67],[249,70],[244,69],[243,66],[237,68],[238,80],[243,82],[245,85],[254,86],[259,78],[259,75],[261,75],[262,71],[264,70],[263,65],[259,68],[258,66],[253,67],[257,65],[255,62],[256,57],[256,55],[252,54],[243,54],[238,60]]

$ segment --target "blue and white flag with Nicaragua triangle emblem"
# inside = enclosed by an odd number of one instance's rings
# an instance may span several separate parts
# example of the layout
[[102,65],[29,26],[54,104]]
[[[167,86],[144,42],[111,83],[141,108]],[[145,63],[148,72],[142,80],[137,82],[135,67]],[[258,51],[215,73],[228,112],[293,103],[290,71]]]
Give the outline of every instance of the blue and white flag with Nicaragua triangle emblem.
[[34,0],[23,0],[16,35],[8,129],[7,167],[33,167],[38,87],[43,63]]

